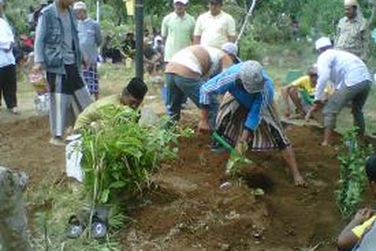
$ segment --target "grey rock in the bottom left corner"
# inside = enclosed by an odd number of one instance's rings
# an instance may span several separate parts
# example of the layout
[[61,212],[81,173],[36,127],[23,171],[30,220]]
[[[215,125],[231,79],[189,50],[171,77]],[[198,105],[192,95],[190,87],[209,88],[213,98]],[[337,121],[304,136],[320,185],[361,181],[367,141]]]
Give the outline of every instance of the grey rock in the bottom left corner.
[[22,192],[28,177],[0,167],[0,241],[3,251],[33,250],[22,202]]

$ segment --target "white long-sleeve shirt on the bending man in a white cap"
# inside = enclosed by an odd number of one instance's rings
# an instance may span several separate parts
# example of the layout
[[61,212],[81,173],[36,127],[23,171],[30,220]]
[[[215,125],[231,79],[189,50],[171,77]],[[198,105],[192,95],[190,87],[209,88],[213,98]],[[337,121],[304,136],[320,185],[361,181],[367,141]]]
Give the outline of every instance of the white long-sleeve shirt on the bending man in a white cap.
[[371,80],[367,66],[357,56],[334,49],[326,50],[317,59],[315,100],[323,100],[326,82],[330,80],[336,90]]

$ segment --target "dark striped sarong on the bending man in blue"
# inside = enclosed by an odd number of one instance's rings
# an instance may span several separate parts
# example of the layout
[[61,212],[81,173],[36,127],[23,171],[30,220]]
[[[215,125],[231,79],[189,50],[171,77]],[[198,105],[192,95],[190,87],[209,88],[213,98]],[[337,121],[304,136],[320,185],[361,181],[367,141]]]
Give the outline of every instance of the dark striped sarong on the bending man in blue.
[[[227,93],[219,108],[216,122],[217,133],[235,146],[242,135],[248,113],[248,108]],[[283,150],[290,146],[290,141],[284,133],[273,105],[263,107],[260,116],[260,124],[253,132],[253,138],[249,139],[249,149],[252,151]]]

